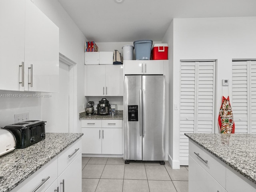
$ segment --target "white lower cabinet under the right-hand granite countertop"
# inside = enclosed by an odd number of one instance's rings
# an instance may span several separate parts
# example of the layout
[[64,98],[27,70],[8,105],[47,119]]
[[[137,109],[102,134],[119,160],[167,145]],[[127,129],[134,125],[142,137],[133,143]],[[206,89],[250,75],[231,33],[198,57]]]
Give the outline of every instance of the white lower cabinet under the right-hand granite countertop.
[[255,183],[191,140],[188,166],[189,192],[256,192]]

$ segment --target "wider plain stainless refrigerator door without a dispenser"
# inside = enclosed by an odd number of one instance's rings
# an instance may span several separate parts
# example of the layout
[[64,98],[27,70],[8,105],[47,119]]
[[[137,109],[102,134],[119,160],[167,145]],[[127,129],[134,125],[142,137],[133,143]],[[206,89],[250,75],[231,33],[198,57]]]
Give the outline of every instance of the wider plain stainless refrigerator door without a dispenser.
[[165,76],[142,76],[142,160],[165,160]]

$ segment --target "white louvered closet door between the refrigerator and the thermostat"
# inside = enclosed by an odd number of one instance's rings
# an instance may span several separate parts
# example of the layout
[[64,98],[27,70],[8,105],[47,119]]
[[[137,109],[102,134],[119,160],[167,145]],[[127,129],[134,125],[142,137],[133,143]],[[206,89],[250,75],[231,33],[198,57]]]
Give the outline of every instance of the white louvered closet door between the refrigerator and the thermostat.
[[180,164],[188,165],[184,133],[214,133],[215,62],[180,62]]

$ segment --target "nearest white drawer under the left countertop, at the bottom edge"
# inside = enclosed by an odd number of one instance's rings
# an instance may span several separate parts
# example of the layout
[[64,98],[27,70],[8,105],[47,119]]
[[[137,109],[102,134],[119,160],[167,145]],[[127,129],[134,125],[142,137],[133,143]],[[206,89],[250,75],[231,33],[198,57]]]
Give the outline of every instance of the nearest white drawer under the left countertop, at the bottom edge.
[[[32,174],[29,178],[19,184],[11,192],[28,192],[35,190],[42,184],[36,192],[44,192],[57,179],[57,156]],[[48,179],[47,179],[48,178]],[[42,181],[42,179],[46,179]],[[42,183],[44,182],[44,183]]]

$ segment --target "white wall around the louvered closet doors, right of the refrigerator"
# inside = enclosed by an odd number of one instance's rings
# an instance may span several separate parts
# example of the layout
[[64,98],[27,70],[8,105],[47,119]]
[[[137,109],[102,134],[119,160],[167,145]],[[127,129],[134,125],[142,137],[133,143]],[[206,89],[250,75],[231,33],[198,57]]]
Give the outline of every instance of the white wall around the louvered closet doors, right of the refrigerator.
[[[172,26],[173,25],[173,26]],[[173,27],[173,30],[172,30]],[[216,59],[215,132],[219,132],[217,117],[222,98],[222,79],[229,79],[228,92],[232,105],[232,59],[256,58],[256,17],[174,19],[173,31],[173,104],[180,102],[180,60]],[[170,42],[171,37],[166,34]],[[170,58],[169,58],[170,59]],[[172,76],[170,75],[170,76]],[[179,110],[170,111],[170,130],[179,138]],[[170,143],[170,156],[178,159],[178,140]]]

